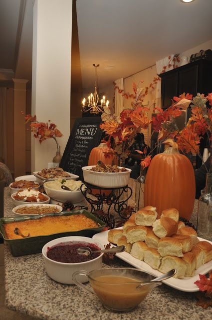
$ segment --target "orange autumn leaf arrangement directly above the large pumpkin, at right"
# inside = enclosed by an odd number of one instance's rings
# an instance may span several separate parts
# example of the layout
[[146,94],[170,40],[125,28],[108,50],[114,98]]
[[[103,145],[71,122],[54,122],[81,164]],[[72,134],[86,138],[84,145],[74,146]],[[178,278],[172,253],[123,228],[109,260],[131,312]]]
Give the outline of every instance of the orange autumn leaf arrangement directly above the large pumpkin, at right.
[[[156,118],[153,119],[153,127],[156,131],[159,131],[158,139],[164,140],[171,138],[178,144],[178,148],[183,153],[193,152],[200,156],[200,140],[205,134],[208,136],[210,153],[212,152],[212,93],[207,96],[198,93],[195,97],[192,94],[181,94],[179,97],[174,96],[173,99],[176,101],[167,110],[163,111],[160,108],[156,108],[159,113]],[[209,106],[207,106],[207,101]],[[180,104],[180,105],[179,105]],[[181,110],[177,110],[175,107],[180,106]],[[172,118],[173,112],[182,113],[182,109],[191,107],[191,117],[189,118],[187,125],[179,131],[175,118]],[[174,110],[173,110],[174,107]],[[171,118],[167,118],[166,114],[170,113]],[[207,168],[206,168],[207,169]],[[207,169],[207,171],[211,171]]]

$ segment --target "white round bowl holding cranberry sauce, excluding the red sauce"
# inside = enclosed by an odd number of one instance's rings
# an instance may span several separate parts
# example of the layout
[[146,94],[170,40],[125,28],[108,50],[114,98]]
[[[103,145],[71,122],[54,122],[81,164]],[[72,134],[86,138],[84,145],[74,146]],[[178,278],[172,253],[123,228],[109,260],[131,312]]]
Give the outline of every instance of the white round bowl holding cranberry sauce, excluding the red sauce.
[[[104,245],[101,244],[99,241],[88,238],[86,236],[64,236],[61,238],[57,238],[54,240],[51,240],[47,242],[43,248],[42,248],[42,255],[45,260],[45,269],[47,274],[52,278],[53,280],[65,283],[65,284],[73,284],[72,280],[72,274],[77,270],[86,270],[91,271],[98,268],[101,268],[102,266],[102,255],[101,253],[98,257],[95,259],[85,261],[85,262],[78,262],[78,263],[64,263],[64,262],[58,262],[51,260],[47,257],[47,248],[51,247],[55,244],[69,242],[69,241],[76,241],[76,242],[88,242],[88,243],[95,243],[100,247],[101,249],[104,249]],[[84,275],[78,277],[80,282],[86,282],[88,281],[87,277]]]

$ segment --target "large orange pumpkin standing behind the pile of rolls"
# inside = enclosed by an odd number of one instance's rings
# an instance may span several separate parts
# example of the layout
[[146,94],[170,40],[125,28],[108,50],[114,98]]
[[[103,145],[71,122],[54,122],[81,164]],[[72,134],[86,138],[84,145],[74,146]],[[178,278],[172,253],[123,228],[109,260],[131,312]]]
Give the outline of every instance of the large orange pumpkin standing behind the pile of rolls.
[[195,201],[195,174],[191,161],[176,148],[169,147],[154,156],[147,171],[144,205],[162,210],[177,208],[180,216],[190,219]]

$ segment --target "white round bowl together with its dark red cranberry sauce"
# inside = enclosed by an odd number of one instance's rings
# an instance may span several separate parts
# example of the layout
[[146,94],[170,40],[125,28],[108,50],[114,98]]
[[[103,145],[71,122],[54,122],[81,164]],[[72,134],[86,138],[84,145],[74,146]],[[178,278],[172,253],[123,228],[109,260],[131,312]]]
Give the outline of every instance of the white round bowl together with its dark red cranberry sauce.
[[[104,249],[99,241],[86,236],[64,236],[47,242],[42,248],[45,269],[53,280],[73,284],[72,274],[77,270],[91,271],[102,266],[103,253],[92,253],[89,256],[77,253],[80,246],[91,250]],[[85,275],[78,277],[80,282],[87,282]]]

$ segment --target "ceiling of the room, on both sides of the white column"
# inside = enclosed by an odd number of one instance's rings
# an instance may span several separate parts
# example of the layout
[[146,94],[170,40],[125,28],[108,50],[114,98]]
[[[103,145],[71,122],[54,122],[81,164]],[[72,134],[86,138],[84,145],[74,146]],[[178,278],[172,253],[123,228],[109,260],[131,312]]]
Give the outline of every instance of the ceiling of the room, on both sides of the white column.
[[[31,79],[32,3],[0,0],[1,80]],[[77,0],[76,8],[85,90],[93,88],[93,63],[103,88],[212,39],[212,0]]]

